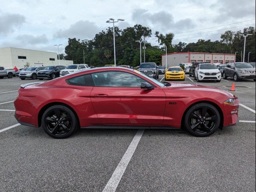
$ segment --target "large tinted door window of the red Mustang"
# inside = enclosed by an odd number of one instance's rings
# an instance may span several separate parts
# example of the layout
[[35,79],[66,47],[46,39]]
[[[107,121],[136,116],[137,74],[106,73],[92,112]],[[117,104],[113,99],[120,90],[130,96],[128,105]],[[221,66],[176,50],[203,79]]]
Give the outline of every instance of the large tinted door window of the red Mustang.
[[140,87],[146,82],[133,74],[117,71],[94,73],[92,80],[97,87]]

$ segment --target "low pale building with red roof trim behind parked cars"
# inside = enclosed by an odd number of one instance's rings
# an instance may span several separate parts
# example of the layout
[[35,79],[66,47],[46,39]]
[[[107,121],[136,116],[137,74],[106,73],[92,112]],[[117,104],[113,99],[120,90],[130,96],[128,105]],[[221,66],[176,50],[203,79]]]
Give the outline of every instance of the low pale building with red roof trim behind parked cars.
[[[210,62],[229,63],[236,61],[236,54],[176,52],[167,54],[167,67],[177,66],[180,63]],[[162,55],[162,66],[166,65],[166,55]]]

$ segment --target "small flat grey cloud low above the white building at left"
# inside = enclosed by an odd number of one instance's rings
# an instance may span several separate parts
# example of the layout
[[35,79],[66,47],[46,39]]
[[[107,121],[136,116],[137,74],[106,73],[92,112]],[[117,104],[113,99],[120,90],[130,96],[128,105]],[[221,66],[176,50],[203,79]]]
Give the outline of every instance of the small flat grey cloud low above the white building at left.
[[44,44],[48,42],[48,38],[45,34],[33,36],[28,34],[19,35],[16,40],[24,44]]

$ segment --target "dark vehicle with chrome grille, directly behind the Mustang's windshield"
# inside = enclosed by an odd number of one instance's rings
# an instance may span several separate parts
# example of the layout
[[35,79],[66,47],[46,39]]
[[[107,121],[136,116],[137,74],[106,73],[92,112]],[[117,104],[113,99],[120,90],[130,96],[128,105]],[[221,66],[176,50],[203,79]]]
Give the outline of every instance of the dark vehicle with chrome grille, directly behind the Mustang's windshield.
[[159,78],[159,69],[156,63],[142,63],[138,67],[138,71],[144,73],[145,75],[158,79]]

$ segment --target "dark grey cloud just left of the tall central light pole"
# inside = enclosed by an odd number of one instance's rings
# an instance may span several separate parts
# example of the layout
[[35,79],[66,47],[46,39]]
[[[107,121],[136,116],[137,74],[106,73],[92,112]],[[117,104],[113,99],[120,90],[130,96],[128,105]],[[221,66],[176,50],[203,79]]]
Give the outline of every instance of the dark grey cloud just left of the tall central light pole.
[[95,34],[100,32],[101,29],[96,26],[94,22],[88,20],[80,20],[72,25],[68,29],[58,30],[53,37],[54,38],[94,38]]

